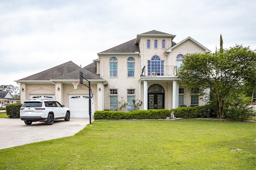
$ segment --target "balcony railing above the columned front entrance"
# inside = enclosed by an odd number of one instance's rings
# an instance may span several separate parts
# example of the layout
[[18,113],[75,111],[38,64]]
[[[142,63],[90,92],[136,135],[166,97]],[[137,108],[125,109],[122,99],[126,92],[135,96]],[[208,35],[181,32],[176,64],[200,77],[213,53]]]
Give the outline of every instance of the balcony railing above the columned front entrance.
[[140,77],[142,76],[176,76],[177,66],[166,65],[166,66],[144,66]]

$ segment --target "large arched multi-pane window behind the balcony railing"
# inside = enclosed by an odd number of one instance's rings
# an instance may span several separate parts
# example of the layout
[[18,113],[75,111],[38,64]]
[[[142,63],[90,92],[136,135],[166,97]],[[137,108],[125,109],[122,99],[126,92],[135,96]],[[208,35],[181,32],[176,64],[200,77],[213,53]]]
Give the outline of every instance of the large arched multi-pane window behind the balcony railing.
[[148,61],[148,75],[164,75],[164,61],[161,61],[158,55]]

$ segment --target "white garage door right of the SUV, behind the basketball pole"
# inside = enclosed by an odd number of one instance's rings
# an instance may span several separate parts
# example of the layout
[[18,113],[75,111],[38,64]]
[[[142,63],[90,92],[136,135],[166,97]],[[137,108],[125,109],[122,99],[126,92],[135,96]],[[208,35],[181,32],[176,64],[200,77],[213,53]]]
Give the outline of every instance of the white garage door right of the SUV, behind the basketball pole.
[[[89,118],[89,95],[68,95],[70,117]],[[94,98],[91,97],[92,117],[94,114]]]

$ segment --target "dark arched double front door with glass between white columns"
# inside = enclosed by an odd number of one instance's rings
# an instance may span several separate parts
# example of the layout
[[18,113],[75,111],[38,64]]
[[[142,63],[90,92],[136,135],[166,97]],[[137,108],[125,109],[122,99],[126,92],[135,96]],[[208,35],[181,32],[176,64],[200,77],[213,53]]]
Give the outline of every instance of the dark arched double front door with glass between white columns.
[[161,85],[148,88],[148,109],[164,109],[164,88]]

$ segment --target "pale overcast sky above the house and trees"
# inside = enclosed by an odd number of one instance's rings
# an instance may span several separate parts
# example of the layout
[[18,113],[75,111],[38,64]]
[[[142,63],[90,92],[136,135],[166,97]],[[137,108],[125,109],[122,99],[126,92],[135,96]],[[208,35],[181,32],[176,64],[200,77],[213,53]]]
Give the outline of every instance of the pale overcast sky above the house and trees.
[[211,51],[256,49],[256,0],[0,0],[0,85],[97,53],[151,30]]

